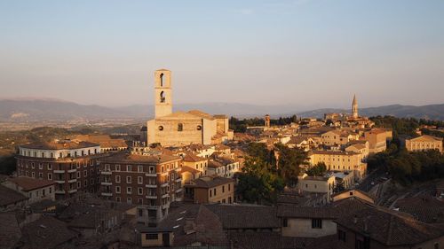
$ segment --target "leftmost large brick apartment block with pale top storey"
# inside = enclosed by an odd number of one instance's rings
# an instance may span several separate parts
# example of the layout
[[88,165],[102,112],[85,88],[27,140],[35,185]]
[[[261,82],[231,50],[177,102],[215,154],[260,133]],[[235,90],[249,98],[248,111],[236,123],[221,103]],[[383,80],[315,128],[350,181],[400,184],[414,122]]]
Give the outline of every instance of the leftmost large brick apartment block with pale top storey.
[[24,144],[19,147],[17,175],[54,181],[55,197],[70,198],[78,191],[96,192],[99,189],[99,144],[52,141]]

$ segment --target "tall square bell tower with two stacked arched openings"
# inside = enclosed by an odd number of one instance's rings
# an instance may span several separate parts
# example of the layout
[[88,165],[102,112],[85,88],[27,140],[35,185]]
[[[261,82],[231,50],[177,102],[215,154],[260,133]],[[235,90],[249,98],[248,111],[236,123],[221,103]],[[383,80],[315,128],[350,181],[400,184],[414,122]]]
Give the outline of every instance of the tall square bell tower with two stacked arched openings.
[[172,113],[171,71],[155,70],[155,118]]

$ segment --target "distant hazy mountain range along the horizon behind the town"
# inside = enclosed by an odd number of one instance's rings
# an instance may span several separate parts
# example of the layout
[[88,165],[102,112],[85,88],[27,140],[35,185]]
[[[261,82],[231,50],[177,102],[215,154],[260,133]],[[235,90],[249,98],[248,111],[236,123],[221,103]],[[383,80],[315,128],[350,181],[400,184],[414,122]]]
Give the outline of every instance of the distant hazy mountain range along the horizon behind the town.
[[[349,113],[345,109],[316,109],[300,112],[296,105],[247,105],[228,103],[205,103],[174,105],[175,111],[199,109],[203,112],[225,113],[235,117],[263,116],[273,117],[297,114],[302,117],[323,117],[324,113]],[[392,115],[432,120],[444,120],[444,104],[441,105],[385,105],[360,109],[364,116]],[[58,99],[20,98],[0,99],[0,121],[99,121],[106,119],[149,119],[154,115],[153,105],[131,105],[124,107],[105,107],[100,105],[79,105]]]

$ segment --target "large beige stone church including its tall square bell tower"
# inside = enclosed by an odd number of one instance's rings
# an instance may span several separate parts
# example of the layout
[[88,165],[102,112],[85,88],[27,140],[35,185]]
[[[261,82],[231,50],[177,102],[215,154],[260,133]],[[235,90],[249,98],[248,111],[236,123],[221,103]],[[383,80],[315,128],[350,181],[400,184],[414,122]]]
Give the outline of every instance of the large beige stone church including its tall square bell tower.
[[155,71],[155,119],[147,121],[147,144],[217,144],[232,138],[225,115],[198,110],[172,113],[171,72]]

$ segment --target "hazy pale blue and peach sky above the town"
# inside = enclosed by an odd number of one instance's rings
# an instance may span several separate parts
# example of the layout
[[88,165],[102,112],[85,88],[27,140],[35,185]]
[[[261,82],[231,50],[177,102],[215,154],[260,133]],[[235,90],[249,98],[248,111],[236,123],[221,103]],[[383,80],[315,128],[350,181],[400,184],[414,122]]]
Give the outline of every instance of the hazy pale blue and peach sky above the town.
[[317,107],[444,103],[440,0],[0,0],[0,97]]

